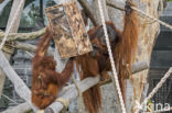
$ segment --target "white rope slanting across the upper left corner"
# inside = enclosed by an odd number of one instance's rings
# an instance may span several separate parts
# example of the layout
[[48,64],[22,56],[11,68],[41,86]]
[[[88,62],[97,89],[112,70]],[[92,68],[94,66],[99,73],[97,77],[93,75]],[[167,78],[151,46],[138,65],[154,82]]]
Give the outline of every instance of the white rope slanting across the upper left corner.
[[6,41],[7,41],[7,37],[9,36],[9,33],[10,33],[11,29],[13,27],[13,25],[14,25],[17,19],[18,19],[19,11],[20,11],[23,2],[24,2],[24,0],[20,1],[19,7],[17,9],[17,12],[14,13],[13,19],[12,19],[11,23],[9,24],[9,27],[7,29],[7,31],[4,33],[4,37],[3,37],[2,43],[0,45],[0,50],[2,49],[2,47],[3,47],[3,45],[4,45]]

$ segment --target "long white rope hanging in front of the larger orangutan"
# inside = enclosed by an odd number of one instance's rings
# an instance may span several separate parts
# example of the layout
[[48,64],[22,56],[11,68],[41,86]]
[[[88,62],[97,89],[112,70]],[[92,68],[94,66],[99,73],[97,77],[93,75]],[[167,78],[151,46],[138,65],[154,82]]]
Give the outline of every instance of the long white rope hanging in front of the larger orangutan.
[[109,38],[108,38],[108,34],[107,34],[107,27],[106,27],[106,23],[105,23],[105,16],[104,16],[104,12],[103,12],[103,7],[101,7],[101,1],[100,0],[98,0],[98,9],[99,9],[99,12],[100,12],[103,29],[104,29],[106,43],[107,43],[107,48],[108,48],[110,63],[111,63],[111,67],[112,67],[114,76],[111,76],[111,79],[112,79],[112,82],[117,87],[117,92],[118,92],[118,95],[119,95],[119,101],[120,101],[122,113],[126,113],[126,108],[125,108],[125,103],[123,103],[123,99],[122,99],[122,94],[121,94],[121,90],[120,90],[120,86],[119,86],[119,81],[118,81],[118,76],[117,76],[117,71],[116,71],[116,67],[115,67],[114,57],[112,57],[112,54],[111,54],[111,48],[110,48],[110,44],[109,44]]

